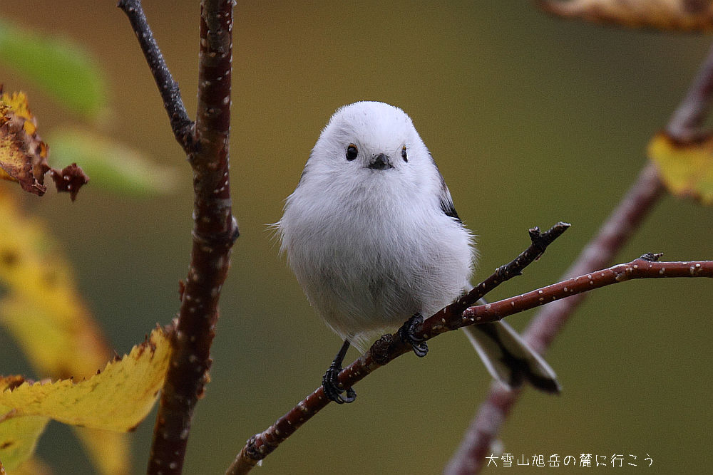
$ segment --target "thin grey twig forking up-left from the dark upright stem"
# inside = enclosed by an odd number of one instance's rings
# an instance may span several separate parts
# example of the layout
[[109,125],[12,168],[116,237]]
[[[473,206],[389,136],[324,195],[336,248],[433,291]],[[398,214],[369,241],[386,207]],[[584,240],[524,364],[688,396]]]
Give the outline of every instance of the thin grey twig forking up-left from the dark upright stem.
[[189,153],[190,148],[193,146],[193,120],[190,120],[188,113],[185,111],[178,83],[168,71],[168,66],[166,66],[166,62],[163,59],[163,53],[158,48],[158,43],[153,37],[153,31],[148,26],[141,0],[119,0],[116,6],[128,16],[131,27],[136,34],[143,56],[146,58],[151,74],[153,74],[158,90],[161,93],[163,108],[168,113],[173,135],[175,135],[183,150]]

